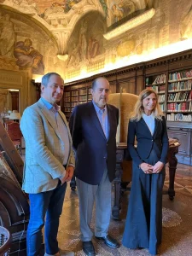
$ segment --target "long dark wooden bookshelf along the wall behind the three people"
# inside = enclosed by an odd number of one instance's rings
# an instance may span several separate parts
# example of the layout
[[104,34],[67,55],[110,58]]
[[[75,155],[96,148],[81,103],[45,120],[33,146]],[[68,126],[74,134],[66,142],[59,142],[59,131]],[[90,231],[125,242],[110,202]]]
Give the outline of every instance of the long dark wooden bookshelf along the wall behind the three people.
[[61,110],[67,119],[75,104],[91,101],[90,86],[98,76],[108,79],[112,93],[138,95],[145,88],[154,89],[167,119],[169,137],[181,142],[178,162],[192,165],[192,49],[66,84],[65,92],[74,93],[63,97]]

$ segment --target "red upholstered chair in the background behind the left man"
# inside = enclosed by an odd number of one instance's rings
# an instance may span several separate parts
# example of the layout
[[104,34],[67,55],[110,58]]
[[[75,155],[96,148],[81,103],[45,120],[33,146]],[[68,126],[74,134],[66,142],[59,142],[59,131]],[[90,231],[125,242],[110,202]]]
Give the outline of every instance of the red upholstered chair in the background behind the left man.
[[20,131],[20,124],[17,122],[7,123],[5,129],[7,130],[12,142],[15,144],[15,148],[19,149],[19,152],[21,152],[22,133]]

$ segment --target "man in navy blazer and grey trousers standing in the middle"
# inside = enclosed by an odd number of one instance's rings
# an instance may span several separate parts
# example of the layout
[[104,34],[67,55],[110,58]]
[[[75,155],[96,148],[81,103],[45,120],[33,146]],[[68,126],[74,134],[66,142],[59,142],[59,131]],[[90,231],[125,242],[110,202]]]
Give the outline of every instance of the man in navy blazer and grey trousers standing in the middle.
[[92,102],[76,106],[69,122],[73,148],[76,151],[75,176],[79,190],[81,241],[86,255],[96,255],[91,241],[93,233],[90,230],[94,201],[96,238],[104,241],[108,247],[119,247],[119,243],[108,235],[119,110],[107,104],[107,79],[95,79],[91,94]]

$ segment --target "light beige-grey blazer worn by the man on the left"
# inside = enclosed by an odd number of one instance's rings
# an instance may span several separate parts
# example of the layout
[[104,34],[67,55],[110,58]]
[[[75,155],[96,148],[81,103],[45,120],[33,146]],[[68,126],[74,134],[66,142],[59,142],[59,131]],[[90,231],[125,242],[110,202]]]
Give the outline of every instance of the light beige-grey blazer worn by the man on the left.
[[[70,154],[67,166],[75,163],[72,138],[67,125],[67,119],[59,111],[67,126],[70,141]],[[55,189],[58,178],[65,176],[64,143],[48,108],[42,99],[26,108],[20,120],[20,130],[26,141],[26,160],[23,174],[22,189],[26,193],[36,194]]]

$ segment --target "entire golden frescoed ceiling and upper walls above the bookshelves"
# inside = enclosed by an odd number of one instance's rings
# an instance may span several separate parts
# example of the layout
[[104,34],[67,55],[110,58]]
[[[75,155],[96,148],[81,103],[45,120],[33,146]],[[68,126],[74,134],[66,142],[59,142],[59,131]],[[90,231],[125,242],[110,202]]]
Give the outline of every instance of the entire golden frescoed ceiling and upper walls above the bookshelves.
[[191,14],[188,0],[0,0],[0,67],[69,80],[124,67],[192,39]]

